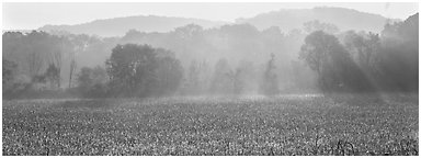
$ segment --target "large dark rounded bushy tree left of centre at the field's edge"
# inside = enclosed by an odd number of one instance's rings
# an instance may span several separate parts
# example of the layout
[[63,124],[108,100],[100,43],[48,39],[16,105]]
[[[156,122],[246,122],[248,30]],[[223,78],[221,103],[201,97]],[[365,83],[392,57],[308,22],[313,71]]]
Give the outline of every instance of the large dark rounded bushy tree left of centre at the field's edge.
[[106,71],[111,86],[117,93],[144,97],[150,93],[150,84],[156,80],[157,68],[155,49],[149,45],[117,45],[106,60]]

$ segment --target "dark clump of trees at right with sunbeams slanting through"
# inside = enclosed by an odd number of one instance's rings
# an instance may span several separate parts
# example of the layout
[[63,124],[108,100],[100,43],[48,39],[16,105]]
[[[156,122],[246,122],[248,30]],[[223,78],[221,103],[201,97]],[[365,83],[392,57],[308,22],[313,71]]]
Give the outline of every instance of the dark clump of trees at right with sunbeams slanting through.
[[323,91],[418,92],[418,14],[386,25],[382,37],[316,31],[305,38],[300,58],[318,74]]

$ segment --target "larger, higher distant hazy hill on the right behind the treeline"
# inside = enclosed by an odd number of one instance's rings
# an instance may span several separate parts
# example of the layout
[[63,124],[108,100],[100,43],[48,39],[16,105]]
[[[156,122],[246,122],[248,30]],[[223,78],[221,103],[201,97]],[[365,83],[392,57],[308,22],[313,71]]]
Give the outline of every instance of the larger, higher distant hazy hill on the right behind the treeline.
[[[344,8],[314,8],[314,9],[291,9],[280,10],[269,13],[258,14],[253,18],[237,19],[236,23],[250,23],[259,30],[270,26],[280,26],[281,30],[288,32],[293,29],[300,29],[308,21],[318,20],[325,23],[337,25],[341,31],[372,31],[379,33],[386,22],[386,18],[360,12]],[[400,20],[391,20],[400,21]]]

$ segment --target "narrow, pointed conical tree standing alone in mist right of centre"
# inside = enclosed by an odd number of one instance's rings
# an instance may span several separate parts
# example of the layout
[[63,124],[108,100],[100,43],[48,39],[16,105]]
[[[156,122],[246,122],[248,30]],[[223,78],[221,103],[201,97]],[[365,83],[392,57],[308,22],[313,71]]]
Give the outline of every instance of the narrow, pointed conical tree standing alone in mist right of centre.
[[266,64],[266,68],[263,74],[263,79],[260,84],[260,90],[263,94],[276,94],[280,92],[277,76],[275,70],[275,55],[271,54],[271,59]]

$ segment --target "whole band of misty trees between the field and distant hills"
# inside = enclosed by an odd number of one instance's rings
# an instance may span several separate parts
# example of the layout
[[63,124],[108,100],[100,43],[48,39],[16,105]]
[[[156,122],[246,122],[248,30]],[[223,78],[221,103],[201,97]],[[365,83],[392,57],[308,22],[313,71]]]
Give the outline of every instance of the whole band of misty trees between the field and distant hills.
[[3,32],[3,99],[417,92],[419,14],[380,33],[320,21],[124,36]]

